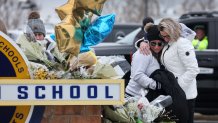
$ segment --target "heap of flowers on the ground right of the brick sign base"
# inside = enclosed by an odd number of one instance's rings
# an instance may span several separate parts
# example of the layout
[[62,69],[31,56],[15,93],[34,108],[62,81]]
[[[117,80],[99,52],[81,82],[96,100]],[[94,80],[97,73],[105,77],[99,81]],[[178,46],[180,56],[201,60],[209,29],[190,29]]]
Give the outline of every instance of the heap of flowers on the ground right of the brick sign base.
[[[128,121],[131,123],[175,123],[177,119],[171,114],[172,112],[166,111],[164,107],[158,103],[159,101],[169,102],[169,98],[163,97],[163,95],[161,95],[161,98],[159,96],[152,101],[152,104],[144,96],[125,98],[124,105],[112,106],[112,108],[109,108],[111,106],[104,107],[103,119],[112,120],[111,122]],[[120,113],[121,111],[125,113]]]

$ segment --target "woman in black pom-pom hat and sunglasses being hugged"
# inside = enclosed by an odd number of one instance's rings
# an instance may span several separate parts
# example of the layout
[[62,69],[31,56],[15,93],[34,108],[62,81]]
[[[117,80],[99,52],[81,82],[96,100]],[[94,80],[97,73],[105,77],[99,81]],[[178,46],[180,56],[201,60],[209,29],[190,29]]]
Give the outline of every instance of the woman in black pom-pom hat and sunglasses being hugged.
[[[152,54],[143,55],[140,50],[133,54],[131,63],[130,81],[126,87],[126,97],[141,96],[140,90],[159,90],[160,83],[153,80],[149,76],[160,68],[159,58],[161,50],[164,46],[162,38],[159,37],[158,26],[148,23],[145,26],[147,31],[147,38],[151,48]],[[148,92],[148,91],[147,91]]]

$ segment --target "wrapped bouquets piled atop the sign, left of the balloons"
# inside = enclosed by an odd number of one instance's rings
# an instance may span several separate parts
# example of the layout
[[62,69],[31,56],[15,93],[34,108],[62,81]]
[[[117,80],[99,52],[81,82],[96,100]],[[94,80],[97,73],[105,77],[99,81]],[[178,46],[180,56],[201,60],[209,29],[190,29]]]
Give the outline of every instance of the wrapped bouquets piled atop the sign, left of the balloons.
[[[66,62],[66,54],[60,53],[55,42],[47,49],[37,41],[29,41],[28,35],[21,35],[17,40],[30,62],[33,79],[89,79],[94,78],[85,66],[71,70]],[[54,58],[51,58],[54,57]],[[85,64],[86,65],[86,64]]]

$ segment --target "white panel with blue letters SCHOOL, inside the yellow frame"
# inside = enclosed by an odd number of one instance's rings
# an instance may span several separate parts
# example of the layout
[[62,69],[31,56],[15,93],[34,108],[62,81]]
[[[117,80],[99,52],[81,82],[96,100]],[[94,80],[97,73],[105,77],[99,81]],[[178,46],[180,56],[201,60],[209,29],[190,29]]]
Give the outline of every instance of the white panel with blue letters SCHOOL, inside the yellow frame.
[[1,85],[0,100],[120,100],[119,84]]

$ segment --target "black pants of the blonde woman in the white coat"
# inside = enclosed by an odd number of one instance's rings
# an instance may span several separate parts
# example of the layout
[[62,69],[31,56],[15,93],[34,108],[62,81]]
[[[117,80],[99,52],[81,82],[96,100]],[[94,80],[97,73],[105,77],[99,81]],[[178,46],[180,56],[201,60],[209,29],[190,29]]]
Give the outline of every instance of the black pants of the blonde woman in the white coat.
[[195,99],[190,99],[187,100],[188,104],[188,123],[193,123],[194,122],[194,112],[195,112]]

